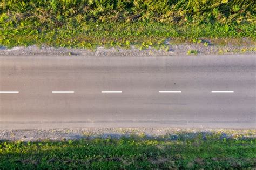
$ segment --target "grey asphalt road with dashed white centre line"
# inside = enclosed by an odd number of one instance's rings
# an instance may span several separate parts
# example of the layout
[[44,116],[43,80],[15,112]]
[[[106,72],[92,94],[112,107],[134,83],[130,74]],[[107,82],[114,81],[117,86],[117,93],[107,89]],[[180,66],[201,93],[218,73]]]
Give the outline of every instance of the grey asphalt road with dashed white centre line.
[[0,56],[0,128],[256,128],[255,59]]

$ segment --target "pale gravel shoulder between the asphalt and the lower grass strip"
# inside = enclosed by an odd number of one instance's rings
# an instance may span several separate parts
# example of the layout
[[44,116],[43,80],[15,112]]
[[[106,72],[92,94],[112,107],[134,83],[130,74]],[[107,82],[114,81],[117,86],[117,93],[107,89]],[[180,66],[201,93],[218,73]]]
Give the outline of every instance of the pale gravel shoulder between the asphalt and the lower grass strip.
[[221,134],[225,138],[256,138],[256,130],[191,129],[191,128],[83,128],[53,130],[0,130],[0,141],[62,141],[93,138],[138,136],[155,138],[193,138],[198,134]]

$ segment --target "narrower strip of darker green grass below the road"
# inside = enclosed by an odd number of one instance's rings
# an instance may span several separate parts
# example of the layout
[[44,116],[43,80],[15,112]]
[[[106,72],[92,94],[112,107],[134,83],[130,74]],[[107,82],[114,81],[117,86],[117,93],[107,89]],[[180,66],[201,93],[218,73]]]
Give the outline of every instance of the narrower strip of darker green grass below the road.
[[256,139],[225,134],[0,142],[0,169],[225,169],[256,166]]

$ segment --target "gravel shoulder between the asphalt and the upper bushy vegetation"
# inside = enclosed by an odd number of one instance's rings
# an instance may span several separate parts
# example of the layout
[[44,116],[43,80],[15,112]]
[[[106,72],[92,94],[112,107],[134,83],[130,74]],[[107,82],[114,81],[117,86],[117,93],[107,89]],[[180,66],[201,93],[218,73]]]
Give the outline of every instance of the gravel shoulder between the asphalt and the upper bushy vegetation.
[[178,45],[165,44],[164,49],[155,49],[149,47],[147,49],[138,49],[131,46],[130,49],[120,47],[97,47],[95,50],[89,49],[69,49],[69,48],[54,48],[54,47],[37,47],[35,45],[28,47],[14,47],[6,49],[0,46],[0,55],[5,56],[24,56],[24,55],[70,55],[70,56],[179,56],[179,55],[223,55],[223,54],[255,54],[256,46],[252,45],[214,45],[205,46],[202,43],[185,43]]

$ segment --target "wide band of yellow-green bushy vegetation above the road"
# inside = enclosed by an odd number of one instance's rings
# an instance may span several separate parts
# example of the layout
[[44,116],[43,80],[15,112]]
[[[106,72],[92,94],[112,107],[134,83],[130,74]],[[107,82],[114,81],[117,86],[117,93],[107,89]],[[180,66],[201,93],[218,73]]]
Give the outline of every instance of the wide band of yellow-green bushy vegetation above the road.
[[255,43],[251,0],[2,0],[0,46]]

